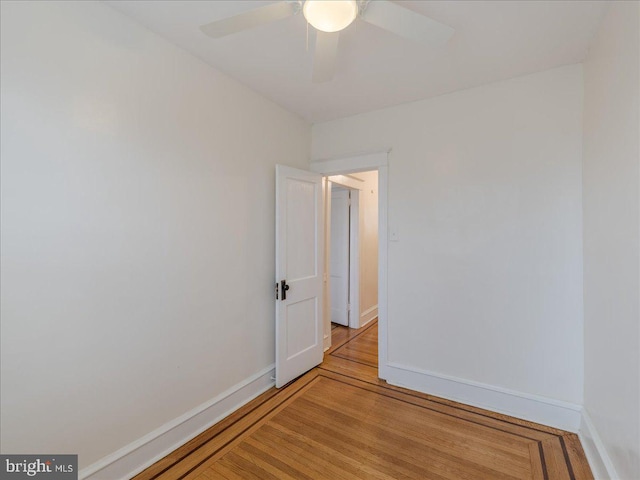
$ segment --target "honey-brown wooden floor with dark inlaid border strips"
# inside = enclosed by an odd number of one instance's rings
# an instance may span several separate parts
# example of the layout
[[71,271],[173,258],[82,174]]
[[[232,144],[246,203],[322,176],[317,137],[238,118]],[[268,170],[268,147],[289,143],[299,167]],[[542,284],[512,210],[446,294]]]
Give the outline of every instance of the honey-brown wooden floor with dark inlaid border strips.
[[333,328],[321,366],[135,480],[593,479],[572,433],[379,380],[377,333]]

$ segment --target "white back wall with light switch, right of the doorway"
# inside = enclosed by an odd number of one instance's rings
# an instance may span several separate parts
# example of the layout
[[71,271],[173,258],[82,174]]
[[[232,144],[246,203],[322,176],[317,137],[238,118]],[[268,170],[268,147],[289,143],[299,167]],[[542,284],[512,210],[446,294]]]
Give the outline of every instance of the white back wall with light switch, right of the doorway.
[[390,363],[581,404],[582,96],[574,65],[313,127],[392,149]]

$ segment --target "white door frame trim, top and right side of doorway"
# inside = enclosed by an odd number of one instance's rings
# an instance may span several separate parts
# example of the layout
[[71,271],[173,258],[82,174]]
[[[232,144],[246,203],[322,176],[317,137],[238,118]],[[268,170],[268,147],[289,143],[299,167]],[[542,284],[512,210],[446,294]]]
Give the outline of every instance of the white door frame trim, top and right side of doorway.
[[[388,376],[388,185],[389,152],[391,149],[373,153],[354,154],[329,160],[312,161],[310,169],[324,176],[378,171],[378,377]],[[328,183],[328,181],[327,181]]]

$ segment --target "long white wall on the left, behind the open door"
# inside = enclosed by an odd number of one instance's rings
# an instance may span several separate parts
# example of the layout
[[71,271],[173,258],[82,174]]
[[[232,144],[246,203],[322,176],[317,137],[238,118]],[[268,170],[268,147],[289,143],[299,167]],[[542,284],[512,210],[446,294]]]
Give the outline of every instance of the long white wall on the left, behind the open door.
[[2,2],[2,451],[80,466],[273,363],[310,127],[99,2]]

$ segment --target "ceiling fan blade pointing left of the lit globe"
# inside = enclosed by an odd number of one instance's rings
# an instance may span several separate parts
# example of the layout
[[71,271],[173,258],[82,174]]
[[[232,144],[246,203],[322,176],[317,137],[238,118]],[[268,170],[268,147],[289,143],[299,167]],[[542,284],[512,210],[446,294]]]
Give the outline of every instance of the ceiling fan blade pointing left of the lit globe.
[[275,22],[283,18],[295,15],[300,10],[299,4],[296,2],[278,2],[265,5],[264,7],[254,8],[248,12],[234,15],[233,17],[223,18],[215,22],[202,25],[200,30],[210,37],[221,38],[233,33],[258,27],[266,23]]

